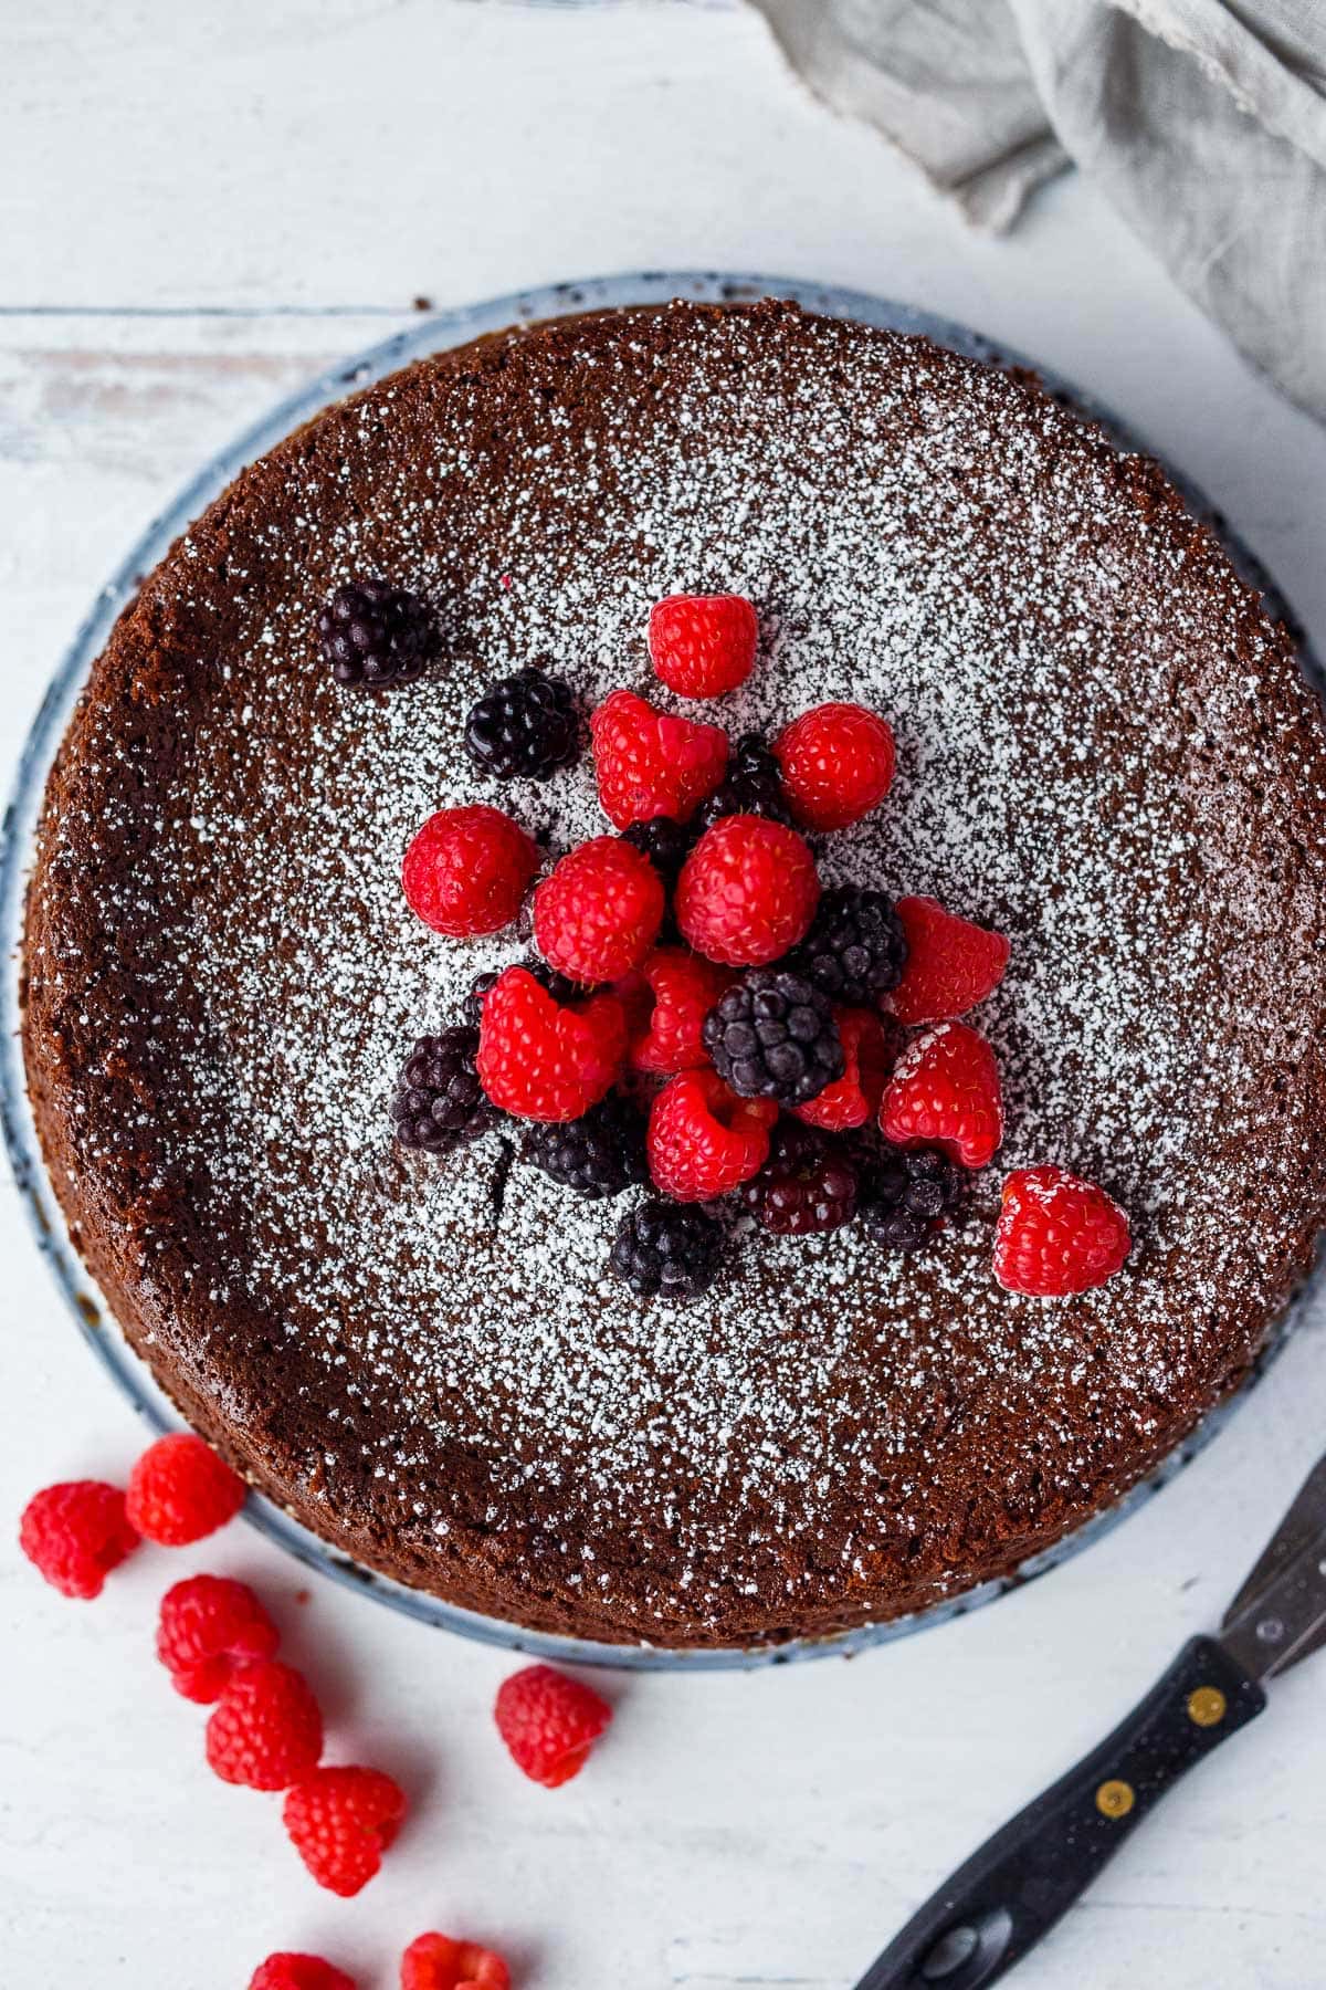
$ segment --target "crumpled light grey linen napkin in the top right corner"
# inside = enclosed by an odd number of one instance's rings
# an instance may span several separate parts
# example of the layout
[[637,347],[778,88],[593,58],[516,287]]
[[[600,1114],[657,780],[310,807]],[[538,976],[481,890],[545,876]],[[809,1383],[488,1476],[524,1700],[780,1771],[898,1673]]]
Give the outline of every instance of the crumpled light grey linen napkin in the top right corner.
[[1326,420],[1326,0],[751,0],[976,225],[1077,165]]

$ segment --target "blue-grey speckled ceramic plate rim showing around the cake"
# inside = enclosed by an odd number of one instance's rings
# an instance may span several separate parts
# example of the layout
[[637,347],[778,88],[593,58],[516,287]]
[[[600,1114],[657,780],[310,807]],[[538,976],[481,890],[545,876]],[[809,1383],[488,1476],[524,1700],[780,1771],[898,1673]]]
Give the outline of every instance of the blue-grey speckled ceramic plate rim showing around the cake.
[[[497,297],[481,304],[437,312],[435,316],[421,318],[408,330],[398,332],[394,338],[372,346],[358,358],[346,360],[330,372],[320,374],[300,394],[280,402],[280,406],[274,408],[266,420],[249,428],[231,444],[231,448],[223,450],[211,464],[207,464],[207,468],[201,470],[199,476],[179,494],[175,503],[171,503],[147,527],[119,571],[101,589],[68,655],[56,671],[46,698],[42,700],[42,708],[18,764],[14,794],[0,832],[0,941],[6,957],[4,987],[0,991],[0,1116],[4,1120],[4,1138],[14,1166],[14,1176],[18,1180],[18,1190],[60,1294],[101,1367],[153,1431],[179,1427],[179,1417],[153,1383],[147,1365],[141,1363],[125,1343],[109,1307],[95,1292],[85,1266],[70,1244],[60,1204],[56,1202],[46,1178],[24,1085],[22,1049],[18,1037],[22,909],[26,880],[32,866],[36,820],[50,764],[58,752],[72,708],[87,683],[91,665],[103,651],[115,617],[133,597],[137,579],[159,563],[173,539],[185,531],[185,527],[239,476],[247,464],[264,456],[276,442],[288,436],[290,430],[308,422],[328,404],[342,400],[358,388],[370,386],[374,380],[382,380],[384,374],[390,374],[400,366],[408,366],[412,360],[425,358],[431,352],[443,352],[451,346],[467,344],[483,332],[495,332],[509,324],[559,318],[582,310],[602,310],[620,304],[666,304],[676,297],[700,302],[751,300],[757,297],[795,298],[805,310],[815,310],[827,316],[857,318],[865,324],[881,324],[901,332],[922,332],[938,344],[952,346],[972,358],[992,360],[996,364],[1032,364],[1020,354],[996,348],[990,340],[966,330],[960,324],[936,318],[930,312],[916,310],[909,304],[897,304],[887,298],[867,297],[859,291],[829,289],[785,277],[650,271],[624,277],[598,277],[584,283],[561,283],[541,291],[519,291],[511,297]],[[1097,420],[1121,448],[1141,448],[1137,438],[1133,438],[1109,410],[1099,408],[1089,396],[1079,394],[1074,386],[1056,378],[1044,366],[1036,366],[1036,372],[1042,380],[1046,380],[1052,392],[1062,392],[1074,406]],[[1272,613],[1284,615],[1284,603],[1268,575],[1258,567],[1248,549],[1231,535],[1225,521],[1213,513],[1203,494],[1197,492],[1171,464],[1165,464],[1163,468],[1179,492],[1183,492],[1191,509],[1207,517],[1213,529],[1219,531],[1243,577],[1252,581],[1252,585],[1268,597]],[[1300,645],[1300,653],[1304,655],[1312,675],[1320,681],[1320,669],[1308,655],[1306,647]],[[394,1610],[402,1610],[423,1624],[433,1624],[439,1630],[457,1632],[465,1638],[477,1638],[485,1644],[505,1646],[513,1652],[527,1652],[539,1658],[563,1660],[580,1666],[618,1666],[668,1672],[714,1672],[789,1664],[803,1658],[847,1656],[867,1646],[911,1636],[916,1630],[942,1624],[948,1618],[962,1616],[968,1610],[994,1602],[996,1596],[1002,1596],[1010,1588],[1056,1568],[1060,1562],[1097,1540],[1107,1528],[1115,1526],[1125,1514],[1133,1512],[1139,1504],[1151,1498],[1153,1492],[1165,1487],[1187,1465],[1187,1461],[1195,1457],[1195,1453],[1201,1451],[1219,1429],[1223,1429],[1239,1403],[1244,1401],[1258,1375],[1264,1373],[1268,1361],[1284,1345],[1284,1339],[1296,1315],[1302,1311],[1304,1301],[1306,1292],[1300,1292],[1282,1315],[1276,1331],[1262,1349],[1252,1373],[1243,1383],[1239,1393],[1213,1409],[1183,1445],[1169,1453],[1169,1457],[1147,1479],[1133,1487],[1131,1492],[1127,1492],[1113,1506],[1095,1514],[1076,1532],[1056,1542],[1054,1548],[1024,1562],[1018,1570],[998,1582],[982,1582],[978,1588],[966,1590],[964,1594],[934,1604],[914,1616],[895,1618],[889,1624],[861,1626],[833,1638],[797,1640],[771,1648],[672,1652],[646,1644],[594,1644],[579,1638],[529,1632],[521,1630],[517,1624],[477,1616],[475,1612],[461,1610],[437,1596],[410,1590],[400,1582],[392,1582],[388,1576],[380,1576],[374,1570],[352,1562],[348,1556],[328,1548],[316,1534],[308,1532],[308,1528],[300,1526],[286,1512],[282,1512],[280,1506],[260,1498],[256,1492],[249,1496],[245,1512],[252,1526],[266,1534],[268,1540],[276,1542],[310,1568],[322,1570],[334,1582],[358,1588],[366,1596],[372,1596]]]

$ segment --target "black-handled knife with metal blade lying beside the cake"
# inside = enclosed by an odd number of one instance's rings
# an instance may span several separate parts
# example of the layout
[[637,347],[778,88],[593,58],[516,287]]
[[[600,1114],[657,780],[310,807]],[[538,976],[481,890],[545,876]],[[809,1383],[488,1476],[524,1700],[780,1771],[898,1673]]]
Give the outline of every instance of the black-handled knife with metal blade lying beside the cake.
[[1115,1731],[944,1881],[857,1990],[984,1990],[1074,1904],[1167,1789],[1326,1642],[1326,1457],[1225,1612]]

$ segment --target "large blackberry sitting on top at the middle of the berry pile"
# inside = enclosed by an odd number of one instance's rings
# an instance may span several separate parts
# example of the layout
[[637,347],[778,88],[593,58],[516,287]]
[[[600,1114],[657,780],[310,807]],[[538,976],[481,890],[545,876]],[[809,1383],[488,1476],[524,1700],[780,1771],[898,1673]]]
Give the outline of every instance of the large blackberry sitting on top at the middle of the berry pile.
[[704,1019],[704,1047],[742,1098],[801,1106],[843,1077],[827,995],[785,967],[755,967]]

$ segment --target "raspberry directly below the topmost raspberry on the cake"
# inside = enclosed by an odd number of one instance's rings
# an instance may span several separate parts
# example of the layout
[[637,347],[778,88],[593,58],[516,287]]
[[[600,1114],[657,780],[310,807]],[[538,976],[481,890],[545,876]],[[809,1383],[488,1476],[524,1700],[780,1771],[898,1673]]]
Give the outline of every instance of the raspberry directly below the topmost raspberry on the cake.
[[590,720],[598,800],[608,822],[672,816],[686,822],[728,768],[728,734],[672,712],[656,712],[634,691],[614,691]]

